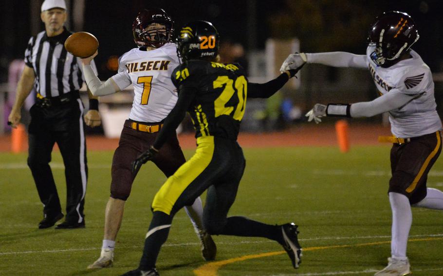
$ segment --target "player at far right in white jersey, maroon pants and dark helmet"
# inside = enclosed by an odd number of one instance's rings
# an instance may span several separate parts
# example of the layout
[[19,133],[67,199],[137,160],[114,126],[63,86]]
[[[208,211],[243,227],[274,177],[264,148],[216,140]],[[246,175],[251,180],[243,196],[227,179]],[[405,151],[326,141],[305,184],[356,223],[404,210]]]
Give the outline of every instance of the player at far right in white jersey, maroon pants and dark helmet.
[[429,67],[410,49],[419,38],[412,18],[402,12],[377,17],[369,31],[366,55],[348,52],[291,54],[280,70],[304,63],[334,67],[369,68],[380,97],[355,104],[315,104],[309,121],[323,116],[371,117],[389,113],[392,137],[389,202],[392,209],[391,258],[376,276],[410,274],[406,244],[412,207],[443,210],[443,192],[426,188],[427,174],[442,150],[442,121],[436,110]]

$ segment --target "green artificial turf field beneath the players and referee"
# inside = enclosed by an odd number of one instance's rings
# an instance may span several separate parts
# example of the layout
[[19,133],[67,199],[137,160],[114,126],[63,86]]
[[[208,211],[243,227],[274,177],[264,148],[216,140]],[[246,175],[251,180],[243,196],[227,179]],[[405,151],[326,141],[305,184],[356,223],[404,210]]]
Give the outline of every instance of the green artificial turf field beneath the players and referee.
[[[389,147],[245,149],[246,171],[230,215],[268,224],[295,222],[306,249],[298,270],[277,242],[216,236],[220,276],[373,275],[387,264],[391,211],[387,190]],[[193,151],[186,151],[189,158]],[[165,176],[145,165],[137,176],[117,236],[114,267],[88,271],[99,257],[104,209],[109,198],[112,152],[88,152],[86,228],[37,229],[42,219],[26,155],[0,154],[0,275],[120,275],[137,267],[151,218],[150,203]],[[64,168],[59,153],[51,163],[65,205]],[[443,161],[428,187],[443,190]],[[203,194],[204,198],[204,194]],[[408,257],[415,276],[443,275],[443,212],[413,209]],[[372,244],[368,244],[372,243]],[[336,247],[343,245],[342,247]],[[335,247],[334,247],[335,246]],[[263,253],[277,252],[274,256]],[[177,213],[157,268],[162,276],[191,276],[206,264],[185,212]]]

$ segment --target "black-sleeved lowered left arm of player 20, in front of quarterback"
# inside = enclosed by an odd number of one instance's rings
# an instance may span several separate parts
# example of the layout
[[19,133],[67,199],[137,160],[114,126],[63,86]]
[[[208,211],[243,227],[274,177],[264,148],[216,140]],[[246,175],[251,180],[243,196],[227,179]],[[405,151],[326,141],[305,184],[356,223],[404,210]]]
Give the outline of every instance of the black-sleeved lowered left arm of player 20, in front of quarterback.
[[175,133],[179,124],[185,119],[186,111],[194,100],[196,92],[197,90],[195,88],[180,86],[177,104],[175,104],[169,115],[167,115],[162,129],[152,145],[155,149],[159,150],[166,140]]

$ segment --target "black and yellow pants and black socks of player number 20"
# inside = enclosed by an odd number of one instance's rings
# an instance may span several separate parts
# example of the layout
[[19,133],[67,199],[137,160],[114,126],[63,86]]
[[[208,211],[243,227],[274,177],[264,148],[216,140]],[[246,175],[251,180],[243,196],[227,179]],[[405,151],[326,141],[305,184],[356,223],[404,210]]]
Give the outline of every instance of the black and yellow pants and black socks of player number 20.
[[154,211],[139,268],[155,267],[166,242],[174,214],[207,190],[203,226],[211,235],[263,237],[282,244],[278,225],[263,224],[245,217],[227,217],[235,201],[245,169],[243,152],[236,141],[212,136],[197,138],[196,153],[170,176],[157,192]]

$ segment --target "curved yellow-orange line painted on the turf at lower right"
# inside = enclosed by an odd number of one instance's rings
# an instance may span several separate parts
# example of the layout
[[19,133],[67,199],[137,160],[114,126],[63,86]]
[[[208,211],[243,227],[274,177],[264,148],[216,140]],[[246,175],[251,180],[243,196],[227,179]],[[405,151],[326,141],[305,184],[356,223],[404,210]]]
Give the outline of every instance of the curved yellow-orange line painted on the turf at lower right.
[[[409,242],[428,242],[428,241],[436,241],[436,240],[443,240],[443,237],[442,238],[411,239],[411,240],[409,240]],[[357,246],[370,246],[370,245],[378,245],[378,244],[386,244],[386,243],[390,243],[390,241],[307,247],[307,248],[303,248],[303,251],[314,251],[314,250],[322,250],[322,249],[334,249],[334,248],[357,247]],[[196,276],[217,276],[217,271],[223,265],[238,262],[238,261],[244,261],[244,260],[248,260],[248,259],[258,259],[258,258],[263,258],[263,257],[270,257],[270,256],[284,254],[284,253],[286,253],[286,251],[276,251],[276,252],[268,252],[268,253],[254,254],[254,255],[246,255],[246,256],[242,256],[242,257],[238,257],[238,258],[225,259],[225,260],[221,260],[221,261],[214,261],[214,262],[210,262],[210,263],[207,263],[205,265],[198,267],[197,269],[194,270],[194,274]]]

